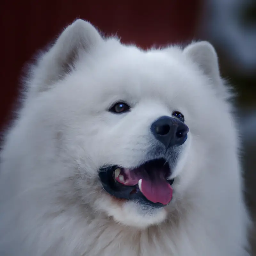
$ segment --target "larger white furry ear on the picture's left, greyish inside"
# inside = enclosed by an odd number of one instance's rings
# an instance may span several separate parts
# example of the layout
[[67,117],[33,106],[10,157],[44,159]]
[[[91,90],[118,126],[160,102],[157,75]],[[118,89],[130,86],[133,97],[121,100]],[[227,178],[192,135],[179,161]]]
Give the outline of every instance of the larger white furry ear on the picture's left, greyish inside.
[[89,22],[74,21],[32,68],[28,80],[29,92],[35,95],[48,90],[72,71],[79,56],[89,54],[102,41],[99,32]]

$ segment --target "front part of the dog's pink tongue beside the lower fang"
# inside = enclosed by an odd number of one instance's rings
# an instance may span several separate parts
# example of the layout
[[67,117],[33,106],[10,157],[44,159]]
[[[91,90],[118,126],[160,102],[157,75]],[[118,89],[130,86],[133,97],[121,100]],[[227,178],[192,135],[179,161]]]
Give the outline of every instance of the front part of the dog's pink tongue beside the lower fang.
[[153,203],[169,204],[172,200],[172,187],[164,177],[159,177],[154,182],[142,179],[141,193]]

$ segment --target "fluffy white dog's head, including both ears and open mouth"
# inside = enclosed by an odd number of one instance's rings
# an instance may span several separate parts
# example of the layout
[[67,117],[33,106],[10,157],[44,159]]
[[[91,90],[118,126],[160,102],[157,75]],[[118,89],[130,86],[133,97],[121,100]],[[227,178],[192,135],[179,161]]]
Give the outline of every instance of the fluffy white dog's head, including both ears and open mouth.
[[220,123],[232,127],[228,95],[207,42],[143,51],[76,20],[32,69],[26,106],[81,204],[147,227],[207,172]]

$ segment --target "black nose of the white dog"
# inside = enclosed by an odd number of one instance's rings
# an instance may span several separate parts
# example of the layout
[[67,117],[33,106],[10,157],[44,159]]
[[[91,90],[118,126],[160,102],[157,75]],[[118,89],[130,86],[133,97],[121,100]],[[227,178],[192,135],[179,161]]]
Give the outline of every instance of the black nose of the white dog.
[[166,148],[182,145],[188,138],[188,130],[186,124],[170,116],[161,116],[151,125],[151,132]]

